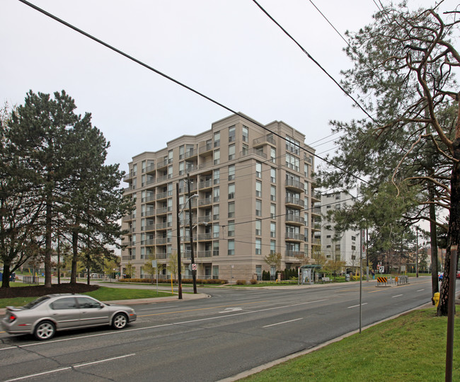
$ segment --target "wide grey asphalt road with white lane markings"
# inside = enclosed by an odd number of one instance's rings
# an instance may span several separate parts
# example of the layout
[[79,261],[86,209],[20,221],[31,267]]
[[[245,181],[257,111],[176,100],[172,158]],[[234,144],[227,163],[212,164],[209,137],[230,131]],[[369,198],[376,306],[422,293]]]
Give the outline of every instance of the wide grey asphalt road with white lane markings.
[[[363,282],[362,327],[430,303],[430,277]],[[204,288],[208,299],[135,306],[127,329],[0,333],[0,381],[219,381],[357,330],[360,284]]]

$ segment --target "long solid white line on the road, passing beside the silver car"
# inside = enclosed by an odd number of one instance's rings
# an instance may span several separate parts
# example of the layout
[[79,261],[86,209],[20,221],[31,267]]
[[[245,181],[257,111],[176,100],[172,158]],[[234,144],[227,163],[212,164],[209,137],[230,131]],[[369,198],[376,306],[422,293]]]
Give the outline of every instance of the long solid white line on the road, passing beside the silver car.
[[[309,303],[318,303],[318,302],[323,302],[323,301],[328,301],[328,299],[305,301],[303,303],[293,303],[291,305],[284,305],[284,306],[274,306],[274,307],[271,307],[271,308],[260,309],[258,311],[248,311],[248,312],[241,312],[241,313],[234,313],[234,314],[226,314],[225,316],[197,318],[196,320],[180,321],[180,322],[177,322],[177,323],[166,323],[166,324],[161,324],[161,325],[152,325],[152,326],[146,326],[145,328],[133,328],[133,329],[125,329],[125,330],[116,330],[116,331],[113,331],[113,332],[98,333],[98,334],[95,334],[95,335],[82,335],[80,337],[63,338],[62,340],[49,340],[49,341],[46,341],[46,342],[33,342],[32,344],[26,344],[26,345],[17,346],[17,347],[14,347],[13,349],[21,349],[23,347],[32,347],[32,346],[38,346],[38,345],[50,345],[50,344],[53,344],[54,342],[73,341],[73,340],[80,340],[80,339],[84,339],[84,338],[101,337],[103,335],[114,335],[114,334],[120,335],[120,334],[126,333],[126,332],[138,332],[139,330],[166,328],[167,326],[183,325],[183,324],[187,324],[187,323],[197,323],[197,322],[200,322],[200,321],[207,321],[207,320],[217,320],[219,318],[229,318],[229,317],[234,317],[234,316],[242,316],[242,315],[246,315],[246,314],[260,313],[260,312],[264,312],[264,311],[274,311],[274,310],[277,310],[277,309],[292,308],[293,306],[301,306],[301,305],[307,305]],[[200,310],[200,309],[198,309],[198,310]],[[12,348],[9,347],[9,348],[4,348],[4,349],[12,349]],[[0,351],[4,350],[4,349],[0,349]]]

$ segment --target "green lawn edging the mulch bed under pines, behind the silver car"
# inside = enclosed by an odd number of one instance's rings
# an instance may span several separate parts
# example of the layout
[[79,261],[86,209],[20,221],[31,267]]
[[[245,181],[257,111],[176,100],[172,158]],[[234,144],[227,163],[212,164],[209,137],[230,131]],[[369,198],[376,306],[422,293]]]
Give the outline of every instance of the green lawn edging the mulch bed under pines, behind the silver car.
[[[11,283],[13,284],[13,283]],[[100,287],[97,291],[87,292],[100,301],[131,300],[131,299],[152,299],[155,297],[171,296],[171,292],[159,291],[153,289],[124,289],[124,288],[106,288]],[[15,299],[0,299],[0,308],[6,306],[23,306],[29,301],[38,299],[38,297],[16,297]]]

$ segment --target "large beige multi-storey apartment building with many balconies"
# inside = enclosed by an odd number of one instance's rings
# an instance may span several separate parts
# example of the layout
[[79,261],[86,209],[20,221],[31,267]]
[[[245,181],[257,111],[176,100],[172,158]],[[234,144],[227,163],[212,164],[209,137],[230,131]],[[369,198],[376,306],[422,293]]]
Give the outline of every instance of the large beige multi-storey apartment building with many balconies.
[[153,257],[163,265],[161,277],[170,277],[166,265],[177,253],[179,218],[183,278],[192,277],[188,176],[198,279],[261,279],[264,270],[275,271],[264,260],[270,253],[282,255],[282,270],[308,260],[317,231],[312,206],[319,202],[311,178],[314,149],[284,122],[262,126],[231,115],[132,158],[125,195],[136,207],[122,219],[129,231],[122,273],[129,265],[131,277],[149,277],[144,267]]

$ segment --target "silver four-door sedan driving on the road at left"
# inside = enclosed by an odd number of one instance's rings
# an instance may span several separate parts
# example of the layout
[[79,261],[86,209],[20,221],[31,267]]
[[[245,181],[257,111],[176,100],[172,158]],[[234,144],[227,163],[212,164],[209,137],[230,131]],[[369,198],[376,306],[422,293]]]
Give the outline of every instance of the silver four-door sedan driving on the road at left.
[[136,318],[130,306],[103,303],[84,294],[48,294],[25,306],[7,306],[1,326],[8,334],[33,334],[38,340],[50,340],[59,330],[100,325],[122,329]]

